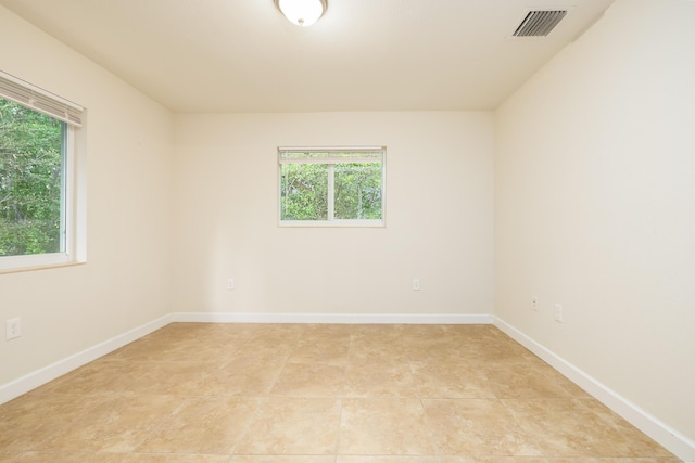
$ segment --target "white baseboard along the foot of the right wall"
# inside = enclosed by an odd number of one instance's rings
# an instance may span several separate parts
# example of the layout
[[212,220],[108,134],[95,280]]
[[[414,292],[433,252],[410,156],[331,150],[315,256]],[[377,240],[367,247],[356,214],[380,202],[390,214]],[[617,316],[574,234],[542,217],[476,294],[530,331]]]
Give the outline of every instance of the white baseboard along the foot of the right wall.
[[637,429],[659,442],[678,458],[686,462],[695,462],[695,442],[691,439],[672,429],[655,416],[652,416],[640,407],[594,380],[582,370],[569,363],[545,346],[536,343],[498,317],[494,317],[494,324],[514,340],[539,356],[555,370],[563,373],[574,384],[626,419]]

